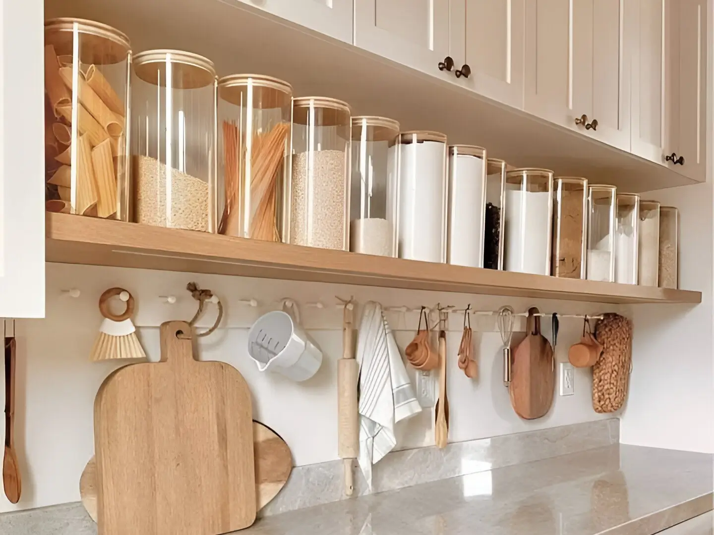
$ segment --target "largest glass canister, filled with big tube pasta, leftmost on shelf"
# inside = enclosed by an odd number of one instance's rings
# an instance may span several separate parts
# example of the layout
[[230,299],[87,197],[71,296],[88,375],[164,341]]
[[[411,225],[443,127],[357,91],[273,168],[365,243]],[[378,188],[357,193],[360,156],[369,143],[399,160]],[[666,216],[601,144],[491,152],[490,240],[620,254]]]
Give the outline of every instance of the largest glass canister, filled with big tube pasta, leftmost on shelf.
[[129,38],[52,19],[44,40],[46,209],[126,221]]

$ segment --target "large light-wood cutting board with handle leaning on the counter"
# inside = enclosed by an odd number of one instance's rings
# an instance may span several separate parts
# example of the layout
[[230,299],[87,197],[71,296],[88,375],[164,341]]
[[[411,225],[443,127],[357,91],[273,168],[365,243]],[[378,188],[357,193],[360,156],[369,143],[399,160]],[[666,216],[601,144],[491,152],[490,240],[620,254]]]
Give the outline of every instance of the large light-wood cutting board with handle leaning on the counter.
[[161,362],[111,373],[94,402],[99,535],[218,535],[256,518],[251,395],[198,362],[186,322],[161,325]]

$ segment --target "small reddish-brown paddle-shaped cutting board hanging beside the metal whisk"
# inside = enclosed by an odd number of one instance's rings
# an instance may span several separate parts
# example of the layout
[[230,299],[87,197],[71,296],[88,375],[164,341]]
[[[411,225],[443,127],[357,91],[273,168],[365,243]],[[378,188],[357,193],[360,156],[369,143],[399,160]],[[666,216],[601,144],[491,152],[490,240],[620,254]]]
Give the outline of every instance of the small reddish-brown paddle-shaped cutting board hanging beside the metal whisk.
[[553,403],[555,391],[555,362],[553,347],[540,334],[538,309],[528,310],[526,338],[513,350],[511,384],[511,405],[523,419],[545,416]]

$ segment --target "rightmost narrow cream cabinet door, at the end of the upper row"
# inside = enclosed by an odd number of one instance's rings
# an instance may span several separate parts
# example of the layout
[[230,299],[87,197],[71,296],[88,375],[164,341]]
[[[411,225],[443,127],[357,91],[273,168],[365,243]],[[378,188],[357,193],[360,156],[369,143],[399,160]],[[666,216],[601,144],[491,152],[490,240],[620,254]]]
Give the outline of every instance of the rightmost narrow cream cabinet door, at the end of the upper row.
[[[673,150],[683,156],[684,165],[668,162],[679,173],[704,181],[706,178],[707,108],[707,2],[679,0],[673,14],[678,19],[678,39],[672,44],[673,61],[678,61],[676,77],[668,83],[673,91]],[[670,151],[671,153],[671,151]]]

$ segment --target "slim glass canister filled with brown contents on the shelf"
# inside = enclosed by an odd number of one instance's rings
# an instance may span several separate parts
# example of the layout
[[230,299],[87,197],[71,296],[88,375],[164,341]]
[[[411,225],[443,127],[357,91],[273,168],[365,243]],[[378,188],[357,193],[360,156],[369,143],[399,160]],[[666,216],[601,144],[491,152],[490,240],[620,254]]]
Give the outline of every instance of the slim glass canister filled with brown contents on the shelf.
[[553,277],[585,278],[588,179],[555,178],[553,198]]

